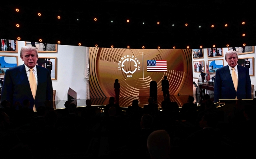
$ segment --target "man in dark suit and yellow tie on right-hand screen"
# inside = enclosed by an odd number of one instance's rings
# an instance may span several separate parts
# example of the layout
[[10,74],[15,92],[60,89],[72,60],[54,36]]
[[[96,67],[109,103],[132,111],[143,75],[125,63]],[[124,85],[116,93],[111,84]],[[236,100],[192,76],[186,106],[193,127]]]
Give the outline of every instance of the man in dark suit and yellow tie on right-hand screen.
[[237,51],[228,51],[225,56],[227,66],[216,71],[214,81],[214,101],[219,99],[251,99],[251,79],[249,70],[237,65]]

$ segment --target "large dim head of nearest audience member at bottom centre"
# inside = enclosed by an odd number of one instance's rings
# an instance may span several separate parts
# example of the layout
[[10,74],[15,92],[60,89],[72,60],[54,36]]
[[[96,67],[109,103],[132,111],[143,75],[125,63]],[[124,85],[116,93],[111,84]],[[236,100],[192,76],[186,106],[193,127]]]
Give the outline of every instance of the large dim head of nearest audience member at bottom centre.
[[170,158],[170,137],[165,130],[157,130],[148,136],[148,152],[152,159]]

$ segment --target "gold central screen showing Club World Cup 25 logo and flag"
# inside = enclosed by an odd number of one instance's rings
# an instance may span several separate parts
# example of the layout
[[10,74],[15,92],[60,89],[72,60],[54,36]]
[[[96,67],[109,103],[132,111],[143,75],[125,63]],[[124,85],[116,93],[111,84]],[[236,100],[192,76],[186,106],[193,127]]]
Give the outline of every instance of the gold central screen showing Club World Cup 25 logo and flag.
[[190,49],[89,48],[90,98],[114,97],[119,80],[120,96],[149,96],[150,82],[169,80],[170,95],[191,95],[192,57]]

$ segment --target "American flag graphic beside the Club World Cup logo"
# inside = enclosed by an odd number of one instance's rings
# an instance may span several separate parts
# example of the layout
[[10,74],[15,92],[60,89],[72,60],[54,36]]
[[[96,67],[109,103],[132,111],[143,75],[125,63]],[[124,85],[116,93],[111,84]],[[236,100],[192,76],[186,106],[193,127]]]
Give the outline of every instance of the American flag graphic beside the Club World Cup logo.
[[167,71],[167,61],[166,60],[147,60],[147,70],[148,72],[160,72]]

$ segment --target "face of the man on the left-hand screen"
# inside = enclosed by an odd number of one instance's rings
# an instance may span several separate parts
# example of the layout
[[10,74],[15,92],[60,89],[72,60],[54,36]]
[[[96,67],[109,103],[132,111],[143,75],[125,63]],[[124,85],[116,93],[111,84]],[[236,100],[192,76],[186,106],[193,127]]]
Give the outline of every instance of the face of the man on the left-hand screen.
[[24,64],[28,66],[28,68],[34,68],[36,66],[36,62],[38,60],[36,56],[35,51],[30,51],[30,52],[24,52],[22,54],[22,61],[24,61]]

